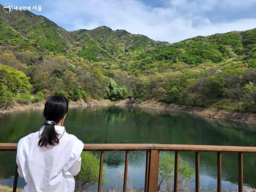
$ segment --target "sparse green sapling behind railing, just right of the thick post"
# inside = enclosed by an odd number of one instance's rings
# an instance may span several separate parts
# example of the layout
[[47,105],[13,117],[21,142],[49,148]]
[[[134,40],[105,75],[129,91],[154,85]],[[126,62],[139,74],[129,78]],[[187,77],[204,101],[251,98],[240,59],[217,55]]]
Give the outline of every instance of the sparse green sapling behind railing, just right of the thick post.
[[[159,160],[159,184],[158,191],[161,185],[165,184],[165,191],[172,191],[170,188],[170,183],[174,179],[174,155],[163,152],[160,154]],[[194,176],[194,169],[190,168],[188,162],[184,161],[182,158],[179,160],[179,176],[178,176],[178,186],[179,191],[187,191],[191,178]]]

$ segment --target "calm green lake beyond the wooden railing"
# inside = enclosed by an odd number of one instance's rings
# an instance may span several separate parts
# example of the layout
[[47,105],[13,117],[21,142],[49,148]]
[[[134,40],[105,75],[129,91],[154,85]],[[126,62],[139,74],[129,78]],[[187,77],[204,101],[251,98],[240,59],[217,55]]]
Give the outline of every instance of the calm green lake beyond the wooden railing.
[[[39,130],[42,110],[0,115],[0,143],[17,143]],[[66,131],[84,143],[162,143],[256,146],[256,127],[196,115],[129,106],[70,108]],[[0,184],[12,185],[16,152],[0,152]],[[181,157],[195,167],[195,153]],[[122,188],[125,152],[105,152],[108,184],[103,189]],[[144,188],[146,152],[131,151],[128,175],[134,189]],[[222,187],[237,190],[237,153],[222,154]],[[200,186],[217,188],[217,153],[200,153]],[[18,180],[18,186],[25,182]],[[244,186],[256,188],[256,154],[244,154]],[[194,183],[191,185],[194,188]],[[91,188],[96,190],[97,186]]]

